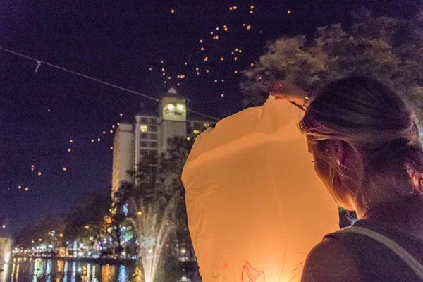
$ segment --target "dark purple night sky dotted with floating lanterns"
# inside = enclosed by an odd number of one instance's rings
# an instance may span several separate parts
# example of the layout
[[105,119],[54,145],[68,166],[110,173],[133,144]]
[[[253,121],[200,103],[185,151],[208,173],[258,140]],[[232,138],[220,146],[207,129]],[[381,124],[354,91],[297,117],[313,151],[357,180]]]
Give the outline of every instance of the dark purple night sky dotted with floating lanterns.
[[[173,86],[189,99],[188,109],[223,118],[242,109],[240,71],[259,59],[266,42],[348,24],[363,6],[399,17],[423,7],[416,0],[6,0],[0,47],[152,97]],[[157,102],[49,66],[34,73],[36,66],[0,51],[0,224],[6,224],[0,236],[63,212],[88,193],[109,195],[112,126],[157,108]]]

